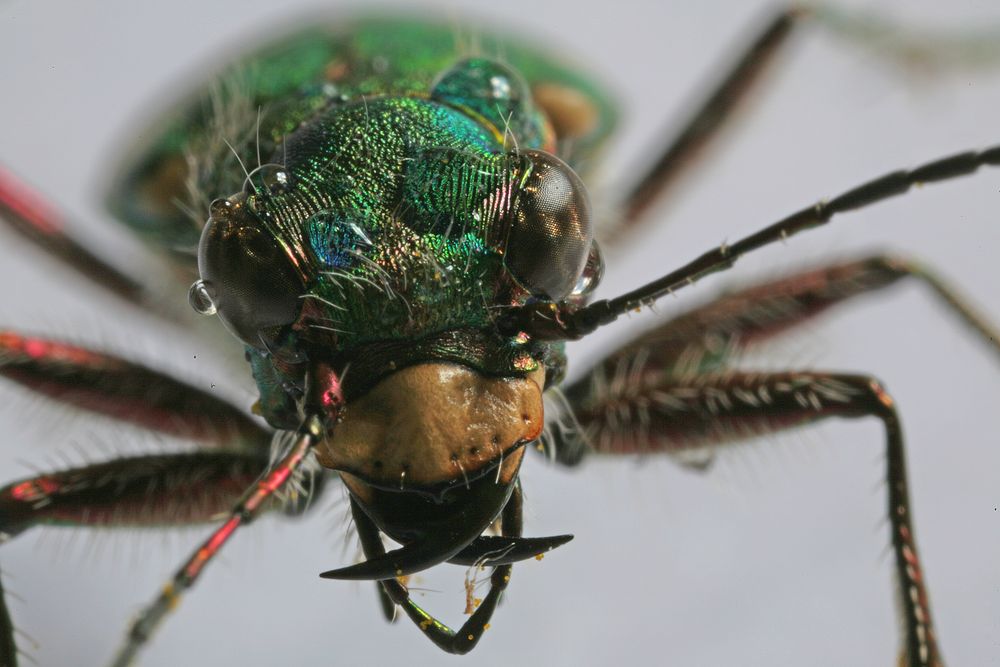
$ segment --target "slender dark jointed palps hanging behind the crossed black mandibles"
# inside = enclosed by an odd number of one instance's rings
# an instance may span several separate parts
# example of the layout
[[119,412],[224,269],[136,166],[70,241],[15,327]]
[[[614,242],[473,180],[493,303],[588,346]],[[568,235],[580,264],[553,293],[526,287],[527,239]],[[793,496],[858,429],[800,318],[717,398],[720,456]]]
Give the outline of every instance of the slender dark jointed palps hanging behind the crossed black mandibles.
[[[524,522],[523,507],[524,499],[521,494],[520,482],[518,482],[501,513],[500,532],[502,535],[521,536]],[[351,500],[351,512],[365,557],[368,560],[374,560],[384,556],[385,546],[382,544],[378,528],[353,499]],[[500,596],[510,583],[512,570],[513,566],[509,563],[494,567],[493,573],[490,575],[489,593],[457,632],[424,611],[410,598],[406,587],[398,580],[386,579],[380,583],[389,600],[402,607],[410,620],[423,630],[424,634],[438,648],[448,653],[464,655],[476,647],[483,633],[489,628],[490,618],[496,610]],[[383,602],[383,606],[384,604]]]

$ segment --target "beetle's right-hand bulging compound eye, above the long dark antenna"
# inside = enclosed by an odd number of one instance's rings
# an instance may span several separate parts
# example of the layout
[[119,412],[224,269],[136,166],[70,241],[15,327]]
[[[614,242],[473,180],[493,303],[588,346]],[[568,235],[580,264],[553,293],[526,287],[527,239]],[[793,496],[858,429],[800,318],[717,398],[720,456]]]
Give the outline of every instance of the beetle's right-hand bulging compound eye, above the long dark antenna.
[[587,190],[556,156],[519,155],[525,172],[508,220],[504,263],[532,294],[561,301],[579,282],[594,241]]

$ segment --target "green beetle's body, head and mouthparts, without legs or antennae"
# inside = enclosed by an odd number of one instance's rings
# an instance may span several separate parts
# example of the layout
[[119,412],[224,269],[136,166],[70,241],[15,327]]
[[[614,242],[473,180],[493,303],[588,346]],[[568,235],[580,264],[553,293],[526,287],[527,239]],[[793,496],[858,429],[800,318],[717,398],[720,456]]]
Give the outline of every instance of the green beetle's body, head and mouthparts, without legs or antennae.
[[[509,564],[569,539],[520,537],[518,484],[563,344],[498,322],[596,286],[587,193],[556,153],[573,141],[583,164],[611,122],[539,54],[456,60],[449,34],[372,20],[271,47],[168,126],[113,208],[153,242],[198,246],[192,305],[246,346],[258,413],[309,425],[350,489],[370,560],[324,576],[389,580],[387,608],[464,653]],[[205,193],[226,192],[205,224]],[[501,510],[501,536],[481,536]],[[377,530],[405,547],[374,555]],[[445,560],[499,566],[457,634],[392,581]]]

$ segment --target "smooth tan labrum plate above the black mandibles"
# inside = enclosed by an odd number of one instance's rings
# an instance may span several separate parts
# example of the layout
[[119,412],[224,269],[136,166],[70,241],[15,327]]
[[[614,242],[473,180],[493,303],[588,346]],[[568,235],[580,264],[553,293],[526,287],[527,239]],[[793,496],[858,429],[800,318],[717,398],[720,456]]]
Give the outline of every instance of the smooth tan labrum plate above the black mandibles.
[[544,384],[543,368],[490,377],[447,362],[409,366],[348,403],[317,458],[356,491],[354,476],[394,488],[437,486],[475,477],[508,454],[500,476],[509,482],[519,445],[541,434]]

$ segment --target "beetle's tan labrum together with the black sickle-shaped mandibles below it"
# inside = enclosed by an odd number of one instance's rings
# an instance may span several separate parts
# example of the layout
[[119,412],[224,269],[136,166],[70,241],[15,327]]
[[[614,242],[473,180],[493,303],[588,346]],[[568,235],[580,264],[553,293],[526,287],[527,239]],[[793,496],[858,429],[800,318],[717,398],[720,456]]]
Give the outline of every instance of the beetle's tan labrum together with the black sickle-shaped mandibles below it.
[[348,402],[318,459],[404,547],[324,576],[391,578],[466,550],[507,503],[524,445],[541,432],[543,384],[542,370],[491,378],[458,364],[422,363]]

